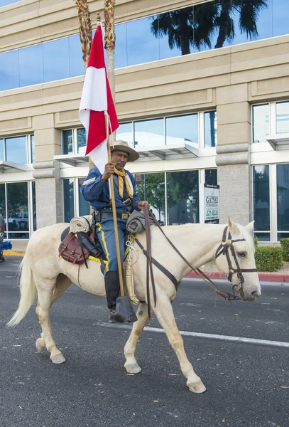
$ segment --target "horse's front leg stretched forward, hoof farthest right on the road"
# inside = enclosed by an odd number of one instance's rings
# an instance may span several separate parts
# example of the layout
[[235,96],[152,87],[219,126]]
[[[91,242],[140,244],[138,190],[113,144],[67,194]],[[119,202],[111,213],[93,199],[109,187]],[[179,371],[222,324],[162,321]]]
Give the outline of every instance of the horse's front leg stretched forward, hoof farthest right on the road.
[[170,345],[178,356],[180,369],[182,370],[182,374],[185,375],[185,378],[187,378],[187,386],[190,391],[193,393],[204,393],[204,391],[206,391],[206,387],[202,384],[200,377],[195,374],[192,364],[190,364],[187,359],[182,336],[175,322],[173,308],[165,293],[158,293],[158,301],[156,307],[153,308],[153,311],[155,312],[160,325],[163,327],[163,330],[165,330],[165,334],[168,337]]

